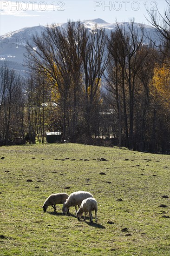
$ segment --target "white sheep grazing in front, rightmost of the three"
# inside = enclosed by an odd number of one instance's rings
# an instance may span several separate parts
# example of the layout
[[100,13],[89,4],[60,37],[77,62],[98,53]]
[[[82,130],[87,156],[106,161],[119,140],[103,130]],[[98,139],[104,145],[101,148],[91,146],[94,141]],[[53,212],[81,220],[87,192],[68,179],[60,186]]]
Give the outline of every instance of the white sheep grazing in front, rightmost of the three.
[[[89,212],[90,222],[93,222],[92,211],[95,211],[95,217],[96,217],[96,222],[97,222],[97,210],[98,210],[98,203],[97,203],[96,199],[87,198],[82,201],[81,206],[78,209],[76,216],[77,216],[78,220],[80,220],[83,213],[85,213],[85,215],[86,215],[86,213]],[[84,218],[84,221],[85,221],[85,218]]]

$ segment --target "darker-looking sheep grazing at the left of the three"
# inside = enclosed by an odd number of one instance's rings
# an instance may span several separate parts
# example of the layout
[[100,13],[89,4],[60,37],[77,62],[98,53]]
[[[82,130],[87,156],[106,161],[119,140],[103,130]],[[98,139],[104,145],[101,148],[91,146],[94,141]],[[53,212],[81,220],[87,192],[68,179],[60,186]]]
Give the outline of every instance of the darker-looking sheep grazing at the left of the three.
[[68,194],[66,193],[57,193],[57,194],[50,195],[43,204],[44,212],[46,212],[46,209],[48,208],[49,205],[51,205],[54,208],[54,211],[56,211],[55,205],[57,203],[63,204],[67,198],[68,198]]

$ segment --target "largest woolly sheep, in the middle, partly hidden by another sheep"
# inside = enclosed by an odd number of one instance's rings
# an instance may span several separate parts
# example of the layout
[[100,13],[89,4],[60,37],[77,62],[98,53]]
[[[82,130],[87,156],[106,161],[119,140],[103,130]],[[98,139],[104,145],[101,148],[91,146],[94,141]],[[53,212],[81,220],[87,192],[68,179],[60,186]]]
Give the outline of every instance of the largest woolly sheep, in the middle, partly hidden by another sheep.
[[77,191],[70,194],[66,202],[63,203],[63,214],[65,214],[66,212],[68,213],[71,206],[75,206],[75,210],[77,212],[77,205],[79,208],[81,202],[88,197],[93,197],[93,195],[86,191]]

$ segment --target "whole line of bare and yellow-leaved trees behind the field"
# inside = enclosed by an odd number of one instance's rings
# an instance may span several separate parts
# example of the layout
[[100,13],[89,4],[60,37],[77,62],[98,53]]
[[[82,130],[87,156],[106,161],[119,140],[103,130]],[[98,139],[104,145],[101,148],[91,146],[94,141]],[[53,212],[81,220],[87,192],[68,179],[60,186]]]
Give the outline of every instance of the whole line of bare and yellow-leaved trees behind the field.
[[[160,20],[150,13],[161,44],[146,44],[134,21],[106,34],[81,22],[47,26],[27,45],[30,77],[0,68],[0,143],[16,136],[45,142],[107,143],[170,152],[170,2]],[[36,50],[35,50],[36,47]]]

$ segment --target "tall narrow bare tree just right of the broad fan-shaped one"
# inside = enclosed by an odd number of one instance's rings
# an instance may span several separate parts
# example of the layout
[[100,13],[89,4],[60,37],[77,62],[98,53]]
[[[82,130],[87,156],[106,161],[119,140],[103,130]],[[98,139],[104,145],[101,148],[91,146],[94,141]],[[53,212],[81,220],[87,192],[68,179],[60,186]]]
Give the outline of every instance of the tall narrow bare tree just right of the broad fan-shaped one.
[[85,82],[86,135],[92,136],[93,103],[108,63],[105,30],[94,27],[90,32],[78,23],[78,45],[83,60]]

